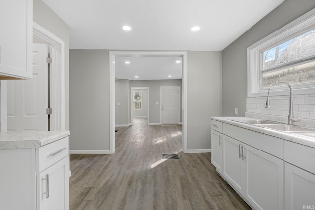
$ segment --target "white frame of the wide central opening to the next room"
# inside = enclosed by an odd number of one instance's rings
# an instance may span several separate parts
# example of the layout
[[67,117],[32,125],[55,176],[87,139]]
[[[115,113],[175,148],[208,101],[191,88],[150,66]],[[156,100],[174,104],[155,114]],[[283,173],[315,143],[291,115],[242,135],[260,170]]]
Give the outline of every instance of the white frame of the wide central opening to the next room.
[[115,152],[115,57],[181,56],[182,61],[182,150],[187,153],[187,52],[186,51],[109,51],[109,152]]

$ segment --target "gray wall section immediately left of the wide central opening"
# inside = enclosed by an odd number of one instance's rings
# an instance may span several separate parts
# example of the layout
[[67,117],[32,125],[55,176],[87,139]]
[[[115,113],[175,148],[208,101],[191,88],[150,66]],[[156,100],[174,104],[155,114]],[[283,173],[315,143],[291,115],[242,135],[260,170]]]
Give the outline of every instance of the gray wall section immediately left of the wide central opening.
[[71,150],[109,150],[109,52],[70,50]]

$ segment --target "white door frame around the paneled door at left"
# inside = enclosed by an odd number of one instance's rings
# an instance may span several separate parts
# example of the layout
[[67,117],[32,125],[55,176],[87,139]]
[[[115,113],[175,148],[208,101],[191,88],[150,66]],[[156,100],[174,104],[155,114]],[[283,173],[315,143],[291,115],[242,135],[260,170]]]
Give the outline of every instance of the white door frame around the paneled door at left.
[[[51,130],[65,130],[65,43],[56,35],[33,22],[33,34],[43,39],[51,49],[52,60],[50,78],[50,107],[53,109],[51,116]],[[1,81],[0,90],[0,132],[7,131],[7,87],[6,81]]]

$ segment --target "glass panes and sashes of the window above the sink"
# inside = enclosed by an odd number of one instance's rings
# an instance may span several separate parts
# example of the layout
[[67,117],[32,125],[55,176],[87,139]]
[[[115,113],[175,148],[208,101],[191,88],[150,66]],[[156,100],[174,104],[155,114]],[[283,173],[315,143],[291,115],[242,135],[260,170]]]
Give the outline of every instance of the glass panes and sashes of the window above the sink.
[[262,89],[280,81],[291,85],[315,82],[315,30],[270,48],[262,55]]

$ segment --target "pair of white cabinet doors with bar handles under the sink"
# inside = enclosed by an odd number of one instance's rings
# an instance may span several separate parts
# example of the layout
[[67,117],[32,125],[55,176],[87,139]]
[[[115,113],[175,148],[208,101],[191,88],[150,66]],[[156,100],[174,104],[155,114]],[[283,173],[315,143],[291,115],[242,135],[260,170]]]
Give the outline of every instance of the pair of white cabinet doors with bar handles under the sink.
[[254,209],[284,209],[284,161],[223,135],[223,177]]

